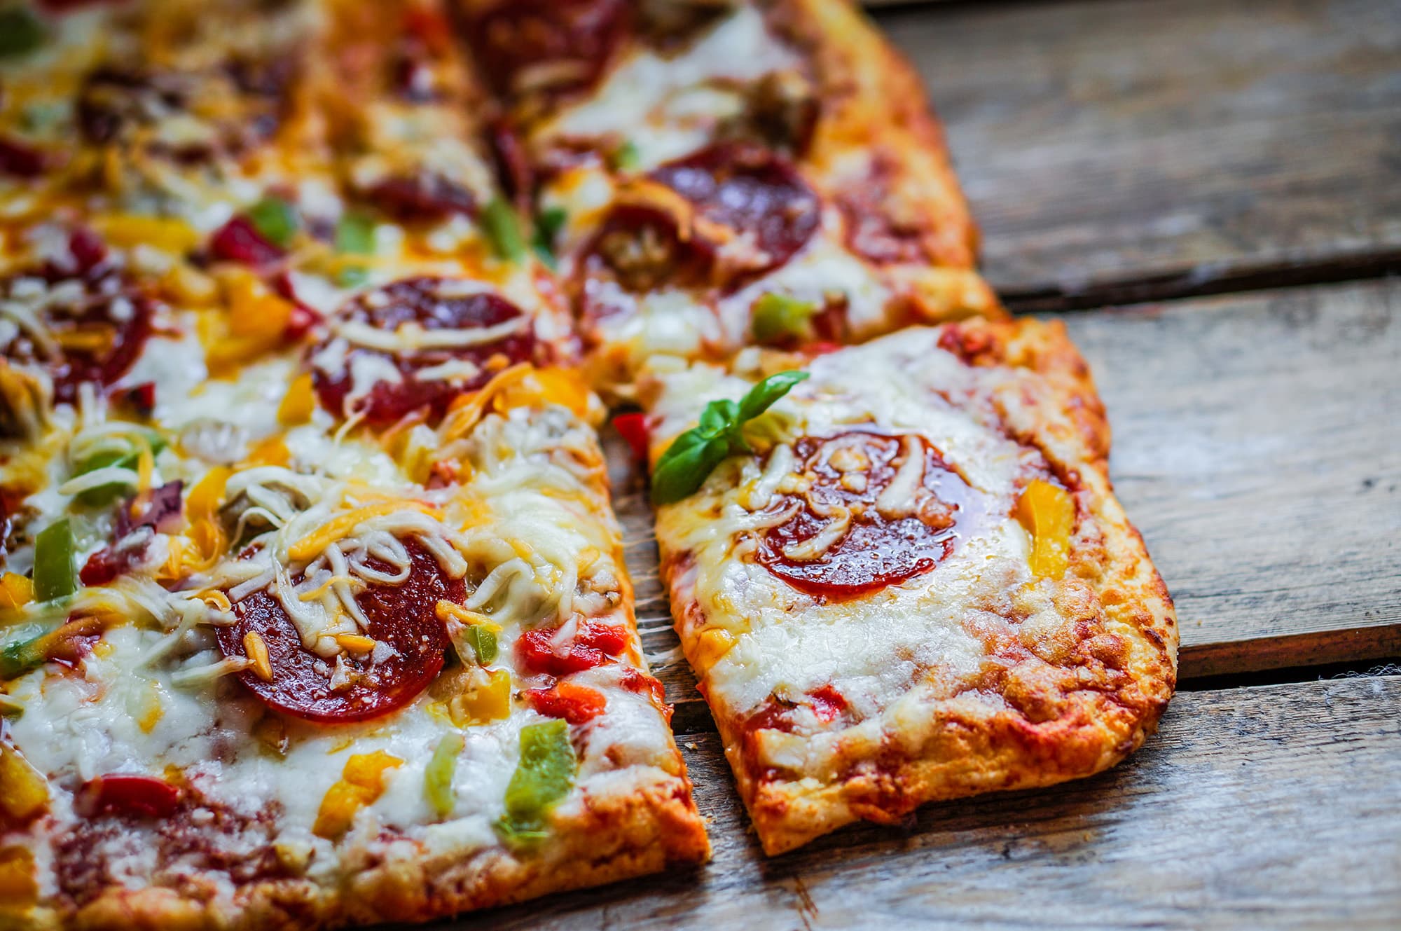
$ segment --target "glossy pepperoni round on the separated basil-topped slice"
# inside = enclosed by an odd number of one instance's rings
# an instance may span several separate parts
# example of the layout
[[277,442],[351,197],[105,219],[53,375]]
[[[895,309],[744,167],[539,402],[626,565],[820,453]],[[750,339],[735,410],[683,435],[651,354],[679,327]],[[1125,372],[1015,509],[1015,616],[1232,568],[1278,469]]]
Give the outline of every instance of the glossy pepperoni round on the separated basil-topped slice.
[[[922,457],[918,478],[904,471],[911,446]],[[815,597],[850,599],[929,572],[976,508],[974,491],[920,436],[804,436],[793,453],[808,491],[771,506],[796,503],[797,512],[764,533],[757,558]],[[892,494],[883,498],[887,488]],[[822,545],[841,509],[850,513],[849,526]]]

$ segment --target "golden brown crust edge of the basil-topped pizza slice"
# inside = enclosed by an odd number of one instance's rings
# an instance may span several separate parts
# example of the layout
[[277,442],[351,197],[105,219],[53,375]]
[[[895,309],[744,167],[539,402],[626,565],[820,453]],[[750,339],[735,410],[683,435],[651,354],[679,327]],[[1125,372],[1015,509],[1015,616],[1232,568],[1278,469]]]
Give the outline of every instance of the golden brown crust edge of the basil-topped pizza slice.
[[[902,708],[877,735],[848,729],[815,778],[773,768],[755,743],[750,709],[716,701],[702,672],[700,691],[769,854],[853,820],[892,823],[929,801],[1105,770],[1153,733],[1175,686],[1171,597],[1114,498],[1104,408],[1065,327],[969,320],[939,332],[941,348],[995,374],[985,400],[1000,429],[1040,450],[1075,492],[1070,565],[1051,596],[1056,623],[1040,625],[1030,596],[1006,592],[989,610],[1014,624],[965,621],[993,660],[971,684]],[[693,558],[665,544],[661,573],[678,630],[700,631],[716,618],[703,617],[686,580]],[[692,666],[706,670],[698,638],[684,637],[684,645]]]

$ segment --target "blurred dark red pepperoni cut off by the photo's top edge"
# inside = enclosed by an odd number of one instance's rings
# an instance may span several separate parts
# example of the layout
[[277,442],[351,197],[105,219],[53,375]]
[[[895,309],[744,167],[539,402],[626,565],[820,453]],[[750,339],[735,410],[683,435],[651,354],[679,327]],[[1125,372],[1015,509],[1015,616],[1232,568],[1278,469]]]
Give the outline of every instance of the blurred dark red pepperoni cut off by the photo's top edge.
[[467,22],[482,77],[497,94],[588,90],[629,32],[626,0],[506,0]]

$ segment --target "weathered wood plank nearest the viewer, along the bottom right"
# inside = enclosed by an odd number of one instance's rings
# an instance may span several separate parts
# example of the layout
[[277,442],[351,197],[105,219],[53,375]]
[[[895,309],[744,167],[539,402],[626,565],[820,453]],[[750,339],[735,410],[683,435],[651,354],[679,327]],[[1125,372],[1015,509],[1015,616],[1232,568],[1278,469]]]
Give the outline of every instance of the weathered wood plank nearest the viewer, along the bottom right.
[[765,861],[715,735],[682,738],[715,861],[462,928],[1394,928],[1401,679],[1188,693],[1117,770]]

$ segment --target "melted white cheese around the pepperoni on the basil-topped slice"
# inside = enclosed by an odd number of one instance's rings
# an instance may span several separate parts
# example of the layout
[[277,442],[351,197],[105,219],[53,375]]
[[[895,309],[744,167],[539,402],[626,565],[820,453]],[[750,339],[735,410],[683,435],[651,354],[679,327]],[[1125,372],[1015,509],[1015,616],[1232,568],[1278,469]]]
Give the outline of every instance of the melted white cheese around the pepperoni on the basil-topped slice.
[[[656,374],[661,387],[653,408],[660,416],[657,449],[689,428],[706,401],[738,400],[750,387],[747,379],[713,366],[667,367]],[[744,456],[717,468],[692,498],[663,508],[657,537],[664,552],[695,557],[693,566],[674,582],[682,597],[693,597],[700,607],[699,624],[684,623],[688,651],[699,649],[705,630],[726,630],[736,638],[705,677],[710,700],[727,714],[743,716],[771,695],[800,700],[832,684],[859,716],[888,719],[905,695],[927,695],[976,674],[984,646],[965,621],[979,606],[1031,583],[1027,534],[1012,517],[1014,482],[1028,453],[936,391],[972,388],[979,377],[937,348],[937,331],[904,331],[820,356],[808,370],[810,380],[775,404],[768,423],[757,430],[766,446],[778,443],[785,450],[799,436],[835,435],[866,423],[923,436],[976,489],[986,510],[964,527],[951,555],[901,585],[821,603],[755,561],[758,529],[787,519],[783,513],[771,517],[772,523],[755,520],[785,480]],[[775,460],[792,468],[790,453]],[[883,495],[877,506],[898,512],[894,498],[913,488],[915,473],[915,467],[901,470],[887,487],[891,499]],[[820,557],[832,540],[820,536],[810,543],[813,552],[789,555]],[[831,750],[825,740],[803,750],[810,754],[803,767],[818,766]]]

